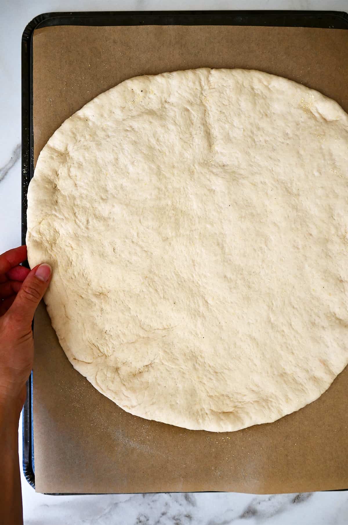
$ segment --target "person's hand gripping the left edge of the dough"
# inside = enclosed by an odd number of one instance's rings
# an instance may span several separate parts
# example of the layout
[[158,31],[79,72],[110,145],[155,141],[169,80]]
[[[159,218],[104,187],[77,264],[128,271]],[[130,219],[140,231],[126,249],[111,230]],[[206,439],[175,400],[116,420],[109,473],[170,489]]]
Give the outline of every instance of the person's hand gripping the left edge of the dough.
[[26,258],[26,246],[0,255],[0,403],[12,405],[18,415],[33,367],[31,322],[51,279],[47,264],[31,271],[19,266]]

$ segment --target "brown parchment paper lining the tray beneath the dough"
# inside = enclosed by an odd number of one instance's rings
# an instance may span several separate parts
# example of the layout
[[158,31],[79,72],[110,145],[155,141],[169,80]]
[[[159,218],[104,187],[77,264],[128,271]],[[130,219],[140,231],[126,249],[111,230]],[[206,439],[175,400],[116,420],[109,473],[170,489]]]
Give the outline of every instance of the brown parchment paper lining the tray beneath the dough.
[[[197,67],[281,75],[348,110],[348,31],[235,26],[61,26],[34,33],[34,151],[93,97],[136,75]],[[234,433],[132,416],[76,372],[45,306],[35,316],[34,446],[39,492],[348,488],[348,370],[319,400]]]

